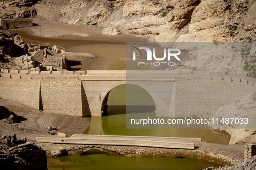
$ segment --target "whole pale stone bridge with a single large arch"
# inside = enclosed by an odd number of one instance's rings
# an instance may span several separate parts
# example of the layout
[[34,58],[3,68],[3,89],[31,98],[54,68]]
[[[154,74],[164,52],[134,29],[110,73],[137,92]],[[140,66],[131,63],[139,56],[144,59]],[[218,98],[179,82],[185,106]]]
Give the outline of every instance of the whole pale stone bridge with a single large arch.
[[156,116],[214,113],[256,91],[256,79],[237,72],[24,71],[1,70],[0,98],[38,110],[73,116],[102,116],[111,89],[133,84],[145,89]]

